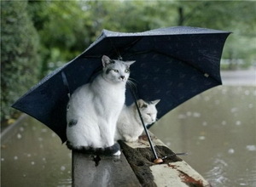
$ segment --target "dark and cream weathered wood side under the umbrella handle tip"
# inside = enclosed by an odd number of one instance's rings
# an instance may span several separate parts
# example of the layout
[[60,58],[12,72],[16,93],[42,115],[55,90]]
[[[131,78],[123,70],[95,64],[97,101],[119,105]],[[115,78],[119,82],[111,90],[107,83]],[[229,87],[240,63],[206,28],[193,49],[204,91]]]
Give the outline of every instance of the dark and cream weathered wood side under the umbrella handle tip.
[[211,186],[207,180],[195,172],[188,163],[176,156],[160,139],[157,139],[152,133],[150,135],[155,144],[154,148],[157,155],[160,158],[167,156],[163,163],[154,163],[154,155],[145,135],[134,143],[119,141],[127,161],[143,186]]

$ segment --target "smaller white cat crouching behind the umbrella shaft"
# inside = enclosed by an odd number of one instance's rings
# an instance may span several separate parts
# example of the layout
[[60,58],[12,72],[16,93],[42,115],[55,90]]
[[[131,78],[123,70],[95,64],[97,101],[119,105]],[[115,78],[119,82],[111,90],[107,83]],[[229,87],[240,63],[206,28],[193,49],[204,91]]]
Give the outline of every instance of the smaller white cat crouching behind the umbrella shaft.
[[[137,105],[141,111],[145,125],[155,122],[157,116],[155,105],[159,102],[160,99],[148,103],[143,99],[137,100]],[[117,122],[115,139],[122,139],[126,142],[137,141],[138,137],[143,133],[143,129],[143,124],[137,112],[136,104],[133,103],[130,106],[124,105]]]

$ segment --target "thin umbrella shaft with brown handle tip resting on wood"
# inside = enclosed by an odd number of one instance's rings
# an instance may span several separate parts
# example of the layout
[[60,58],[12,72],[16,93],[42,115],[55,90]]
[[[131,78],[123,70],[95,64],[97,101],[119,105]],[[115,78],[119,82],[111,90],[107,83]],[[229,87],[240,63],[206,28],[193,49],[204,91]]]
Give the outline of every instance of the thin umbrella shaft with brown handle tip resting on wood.
[[152,143],[152,140],[151,140],[150,135],[148,134],[148,129],[147,129],[147,127],[145,126],[145,123],[144,123],[144,121],[143,121],[142,113],[141,113],[141,111],[140,111],[140,109],[139,109],[139,107],[138,107],[138,105],[137,105],[136,95],[135,95],[135,93],[133,92],[133,90],[132,90],[131,88],[130,88],[130,91],[131,91],[132,97],[133,97],[133,99],[134,99],[134,101],[135,101],[135,105],[136,105],[136,108],[137,108],[138,115],[140,116],[140,119],[141,119],[141,121],[142,121],[142,123],[143,123],[144,131],[145,131],[145,133],[146,133],[146,135],[147,135],[147,137],[148,137],[148,142],[149,142],[150,148],[151,148],[151,150],[152,150],[152,152],[153,152],[153,154],[154,154],[154,163],[161,163],[161,162],[163,162],[163,160],[157,156],[156,151],[154,150],[154,145],[153,145],[153,143]]

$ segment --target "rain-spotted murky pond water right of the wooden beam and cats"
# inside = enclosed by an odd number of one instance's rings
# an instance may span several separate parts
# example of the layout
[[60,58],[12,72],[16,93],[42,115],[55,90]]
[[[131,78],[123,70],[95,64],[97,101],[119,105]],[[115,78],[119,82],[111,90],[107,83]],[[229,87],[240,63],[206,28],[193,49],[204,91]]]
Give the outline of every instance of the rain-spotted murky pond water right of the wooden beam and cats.
[[256,186],[256,87],[212,88],[150,128],[212,186]]

